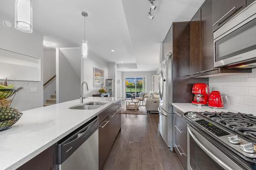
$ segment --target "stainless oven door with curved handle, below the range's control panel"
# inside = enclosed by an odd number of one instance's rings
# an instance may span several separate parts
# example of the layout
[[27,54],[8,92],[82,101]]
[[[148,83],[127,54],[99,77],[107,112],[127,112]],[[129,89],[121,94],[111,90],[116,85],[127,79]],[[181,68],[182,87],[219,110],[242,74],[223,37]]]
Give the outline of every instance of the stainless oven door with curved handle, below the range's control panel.
[[243,169],[189,125],[187,125],[187,168],[189,170]]

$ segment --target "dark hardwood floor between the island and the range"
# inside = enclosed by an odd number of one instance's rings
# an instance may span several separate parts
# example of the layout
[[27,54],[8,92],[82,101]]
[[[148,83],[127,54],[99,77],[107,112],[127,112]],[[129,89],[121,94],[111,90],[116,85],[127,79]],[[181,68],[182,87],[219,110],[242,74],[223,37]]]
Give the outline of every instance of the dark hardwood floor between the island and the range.
[[122,114],[122,128],[104,170],[183,169],[158,132],[158,114]]

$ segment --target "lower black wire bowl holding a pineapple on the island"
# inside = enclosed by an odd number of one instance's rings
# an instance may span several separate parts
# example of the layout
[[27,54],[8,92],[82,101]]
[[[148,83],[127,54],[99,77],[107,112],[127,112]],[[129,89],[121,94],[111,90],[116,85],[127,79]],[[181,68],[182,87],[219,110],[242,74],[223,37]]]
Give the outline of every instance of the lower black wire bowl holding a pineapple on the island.
[[17,109],[0,107],[0,131],[11,128],[22,115]]

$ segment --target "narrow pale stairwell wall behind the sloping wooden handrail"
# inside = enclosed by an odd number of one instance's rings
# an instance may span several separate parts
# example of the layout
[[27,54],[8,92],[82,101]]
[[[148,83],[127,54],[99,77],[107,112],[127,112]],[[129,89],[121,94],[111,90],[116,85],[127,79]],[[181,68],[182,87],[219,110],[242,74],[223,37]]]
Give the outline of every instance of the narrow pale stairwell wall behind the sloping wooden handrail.
[[[56,52],[52,49],[44,49],[44,84],[56,75]],[[51,98],[56,90],[56,78],[44,86],[44,102]]]

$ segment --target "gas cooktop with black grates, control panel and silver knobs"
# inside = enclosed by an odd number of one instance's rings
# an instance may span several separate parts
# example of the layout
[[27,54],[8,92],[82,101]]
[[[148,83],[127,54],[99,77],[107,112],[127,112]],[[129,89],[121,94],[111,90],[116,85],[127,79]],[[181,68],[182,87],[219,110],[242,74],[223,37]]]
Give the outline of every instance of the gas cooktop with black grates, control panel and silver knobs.
[[256,116],[232,112],[187,112],[187,119],[248,158],[256,158]]

